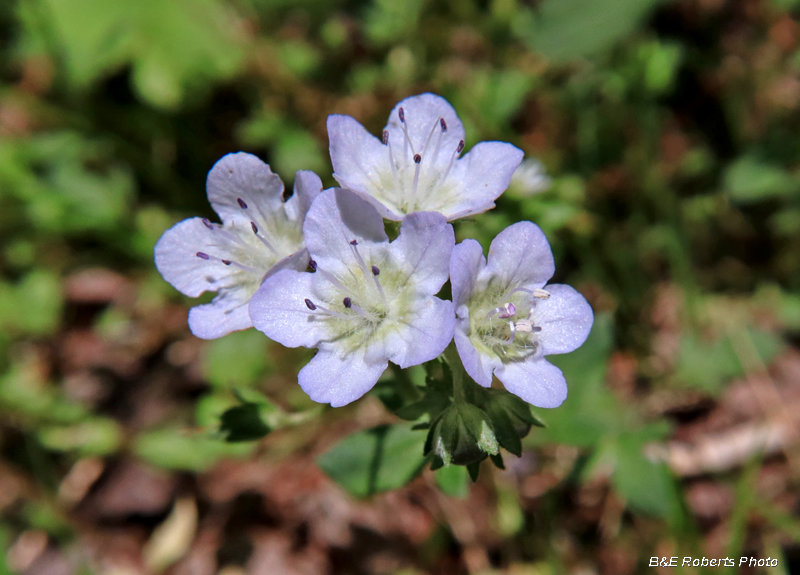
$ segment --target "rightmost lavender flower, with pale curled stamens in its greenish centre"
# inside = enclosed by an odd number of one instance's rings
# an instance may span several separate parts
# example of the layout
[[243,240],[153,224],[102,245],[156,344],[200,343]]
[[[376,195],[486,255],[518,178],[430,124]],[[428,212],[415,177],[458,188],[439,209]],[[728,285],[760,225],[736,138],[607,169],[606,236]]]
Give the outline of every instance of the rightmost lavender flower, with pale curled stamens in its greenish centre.
[[467,373],[489,387],[492,373],[506,389],[539,407],[558,407],[567,382],[545,355],[580,347],[592,308],[567,285],[545,285],[555,264],[544,233],[530,222],[500,232],[488,264],[475,240],[453,250],[450,282],[455,342]]

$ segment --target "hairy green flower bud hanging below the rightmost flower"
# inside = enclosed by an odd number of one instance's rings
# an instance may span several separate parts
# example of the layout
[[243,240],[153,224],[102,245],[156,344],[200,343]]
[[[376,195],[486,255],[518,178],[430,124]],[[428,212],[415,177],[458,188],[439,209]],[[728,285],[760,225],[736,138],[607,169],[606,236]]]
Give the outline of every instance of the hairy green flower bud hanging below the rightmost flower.
[[426,450],[444,465],[467,465],[496,455],[500,449],[489,417],[468,403],[451,405],[431,428]]

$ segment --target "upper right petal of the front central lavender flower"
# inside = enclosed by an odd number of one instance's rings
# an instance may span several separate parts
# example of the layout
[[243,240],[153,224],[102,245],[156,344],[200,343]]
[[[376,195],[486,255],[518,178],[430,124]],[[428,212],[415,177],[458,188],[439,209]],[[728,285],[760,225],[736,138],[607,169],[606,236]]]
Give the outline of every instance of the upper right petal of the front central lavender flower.
[[455,243],[453,226],[442,214],[416,212],[403,219],[389,252],[408,273],[408,286],[432,295],[447,281]]

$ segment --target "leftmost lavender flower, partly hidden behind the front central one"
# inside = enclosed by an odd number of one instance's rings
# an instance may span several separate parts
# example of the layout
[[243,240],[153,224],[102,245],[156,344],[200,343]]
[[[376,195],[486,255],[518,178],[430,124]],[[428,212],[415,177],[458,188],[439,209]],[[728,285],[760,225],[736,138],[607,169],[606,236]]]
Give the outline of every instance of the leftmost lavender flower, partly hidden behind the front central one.
[[181,293],[218,292],[189,312],[192,333],[214,339],[252,327],[247,304],[267,275],[306,268],[302,226],[322,182],[313,172],[297,172],[294,194],[284,203],[281,179],[240,152],[214,164],[206,190],[222,223],[191,218],[176,224],[161,236],[155,257],[158,271]]

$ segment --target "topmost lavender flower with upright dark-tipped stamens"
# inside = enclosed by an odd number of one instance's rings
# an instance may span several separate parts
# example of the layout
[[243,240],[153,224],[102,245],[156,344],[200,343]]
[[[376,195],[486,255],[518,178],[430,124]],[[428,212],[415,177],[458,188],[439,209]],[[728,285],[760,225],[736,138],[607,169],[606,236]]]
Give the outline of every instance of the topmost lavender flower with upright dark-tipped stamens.
[[511,144],[482,142],[460,158],[464,126],[434,94],[397,104],[380,139],[342,115],[328,117],[328,138],[336,180],[394,221],[422,211],[452,221],[493,208],[523,155]]

